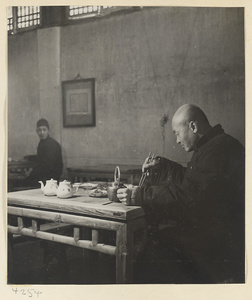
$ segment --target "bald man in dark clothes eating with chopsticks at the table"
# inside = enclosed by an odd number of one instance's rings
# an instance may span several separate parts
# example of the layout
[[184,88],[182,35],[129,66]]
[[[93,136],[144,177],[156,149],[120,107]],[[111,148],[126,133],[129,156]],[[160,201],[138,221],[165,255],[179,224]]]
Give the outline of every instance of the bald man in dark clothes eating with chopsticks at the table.
[[[212,127],[195,105],[176,111],[172,129],[177,143],[193,151],[187,167],[163,157],[146,159],[145,185],[117,194],[125,205],[141,205],[148,222],[177,223],[155,235],[162,255],[151,273],[157,283],[244,282],[245,149],[221,125]],[[153,276],[149,283],[155,283]]]

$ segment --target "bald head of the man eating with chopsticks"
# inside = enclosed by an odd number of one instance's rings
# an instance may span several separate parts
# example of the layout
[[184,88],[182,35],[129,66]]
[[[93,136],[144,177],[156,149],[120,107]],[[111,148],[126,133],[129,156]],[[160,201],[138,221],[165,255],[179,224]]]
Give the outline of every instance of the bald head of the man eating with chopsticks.
[[181,106],[172,118],[172,128],[185,151],[194,150],[197,141],[211,129],[204,112],[196,105]]

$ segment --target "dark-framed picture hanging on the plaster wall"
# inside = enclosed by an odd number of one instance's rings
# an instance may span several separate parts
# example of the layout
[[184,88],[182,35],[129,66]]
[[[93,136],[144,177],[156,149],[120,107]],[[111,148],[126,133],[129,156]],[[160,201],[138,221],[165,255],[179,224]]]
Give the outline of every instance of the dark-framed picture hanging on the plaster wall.
[[63,126],[95,126],[95,79],[62,81]]

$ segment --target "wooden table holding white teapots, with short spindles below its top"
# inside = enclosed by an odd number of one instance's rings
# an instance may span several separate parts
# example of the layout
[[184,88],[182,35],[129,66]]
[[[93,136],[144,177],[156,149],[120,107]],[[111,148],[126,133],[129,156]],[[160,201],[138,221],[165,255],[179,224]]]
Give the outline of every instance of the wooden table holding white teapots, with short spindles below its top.
[[[69,199],[44,196],[40,189],[8,193],[8,214],[17,216],[18,221],[17,226],[8,225],[8,233],[115,255],[116,283],[131,283],[134,255],[146,242],[144,211],[138,206],[109,203],[107,198],[88,195],[83,189]],[[23,218],[31,219],[32,226],[26,228]],[[43,231],[39,226],[41,220],[72,225],[72,236]],[[82,238],[83,227],[91,229],[91,240]],[[115,245],[99,241],[103,230],[115,232]]]

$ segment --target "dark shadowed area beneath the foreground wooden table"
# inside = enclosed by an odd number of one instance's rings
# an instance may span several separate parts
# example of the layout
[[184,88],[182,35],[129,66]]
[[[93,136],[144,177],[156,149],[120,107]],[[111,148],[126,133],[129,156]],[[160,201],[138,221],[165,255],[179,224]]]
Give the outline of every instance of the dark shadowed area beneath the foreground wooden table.
[[15,242],[9,252],[8,284],[112,283],[113,256],[32,238]]

